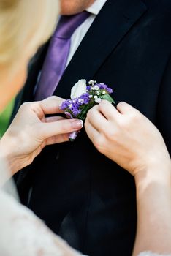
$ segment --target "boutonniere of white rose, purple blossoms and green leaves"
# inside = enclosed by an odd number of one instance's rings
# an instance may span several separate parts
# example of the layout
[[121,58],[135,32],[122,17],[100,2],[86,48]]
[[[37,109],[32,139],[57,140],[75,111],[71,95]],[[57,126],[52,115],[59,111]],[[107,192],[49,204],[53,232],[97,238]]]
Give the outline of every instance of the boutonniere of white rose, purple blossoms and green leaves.
[[[82,79],[75,83],[72,87],[70,99],[62,102],[61,110],[69,118],[77,118],[85,121],[88,110],[94,105],[99,104],[103,99],[108,100],[111,103],[115,103],[110,94],[113,93],[113,89],[107,87],[104,83],[97,83],[94,80],[86,83],[86,80]],[[69,136],[70,140],[75,140],[77,132],[72,132]]]

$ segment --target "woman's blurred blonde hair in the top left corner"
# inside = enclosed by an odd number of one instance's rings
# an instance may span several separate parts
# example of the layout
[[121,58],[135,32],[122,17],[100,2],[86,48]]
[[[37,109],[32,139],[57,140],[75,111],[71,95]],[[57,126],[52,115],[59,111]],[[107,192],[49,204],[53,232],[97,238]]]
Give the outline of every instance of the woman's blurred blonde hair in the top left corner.
[[15,67],[56,26],[58,0],[0,0],[0,66]]

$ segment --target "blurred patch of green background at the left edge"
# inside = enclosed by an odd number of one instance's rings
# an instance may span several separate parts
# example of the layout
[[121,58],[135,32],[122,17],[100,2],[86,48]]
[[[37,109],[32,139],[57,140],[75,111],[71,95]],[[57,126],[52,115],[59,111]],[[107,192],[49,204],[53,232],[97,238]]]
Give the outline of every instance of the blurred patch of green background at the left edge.
[[0,138],[2,135],[4,135],[4,132],[6,131],[8,124],[9,124],[9,119],[12,114],[12,110],[14,107],[14,102],[15,100],[12,99],[12,101],[7,105],[7,108],[0,114]]

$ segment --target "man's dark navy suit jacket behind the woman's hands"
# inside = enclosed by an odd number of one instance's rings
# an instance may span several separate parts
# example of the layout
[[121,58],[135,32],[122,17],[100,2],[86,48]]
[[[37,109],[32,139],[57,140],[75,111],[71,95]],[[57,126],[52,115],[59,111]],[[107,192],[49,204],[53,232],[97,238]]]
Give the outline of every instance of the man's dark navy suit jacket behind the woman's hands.
[[[33,99],[47,47],[32,61],[23,102]],[[54,94],[68,99],[81,78],[107,83],[116,102],[129,102],[159,127],[171,151],[170,50],[170,0],[107,0]],[[22,202],[76,249],[132,255],[134,178],[99,154],[84,130],[73,143],[45,148],[18,183]]]

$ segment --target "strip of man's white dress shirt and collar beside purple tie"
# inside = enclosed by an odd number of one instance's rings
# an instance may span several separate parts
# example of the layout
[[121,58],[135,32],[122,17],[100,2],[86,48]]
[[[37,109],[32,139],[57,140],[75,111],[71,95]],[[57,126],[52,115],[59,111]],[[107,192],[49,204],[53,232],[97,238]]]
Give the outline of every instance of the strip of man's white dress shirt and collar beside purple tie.
[[71,47],[69,50],[66,67],[74,56],[78,46],[80,45],[80,42],[85,37],[88,29],[91,27],[91,24],[94,22],[96,15],[98,15],[106,1],[107,0],[96,0],[94,1],[94,4],[91,4],[91,7],[86,9],[86,11],[90,12],[91,15],[75,30],[74,34],[72,34]]

